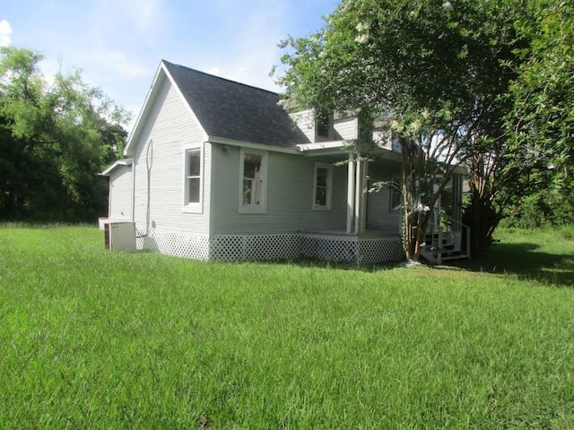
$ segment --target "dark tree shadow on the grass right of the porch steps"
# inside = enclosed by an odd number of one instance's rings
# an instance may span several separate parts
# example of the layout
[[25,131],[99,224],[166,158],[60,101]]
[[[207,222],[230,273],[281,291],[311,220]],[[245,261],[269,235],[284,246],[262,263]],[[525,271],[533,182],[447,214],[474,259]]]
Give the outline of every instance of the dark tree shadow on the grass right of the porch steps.
[[520,279],[574,287],[574,255],[548,254],[531,243],[495,243],[482,255],[452,265],[468,271],[509,273]]

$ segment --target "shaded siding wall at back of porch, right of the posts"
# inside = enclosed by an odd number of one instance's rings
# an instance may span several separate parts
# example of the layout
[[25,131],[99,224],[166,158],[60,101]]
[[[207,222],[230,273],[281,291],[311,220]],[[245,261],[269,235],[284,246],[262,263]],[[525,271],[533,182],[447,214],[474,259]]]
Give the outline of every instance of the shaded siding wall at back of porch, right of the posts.
[[[369,166],[369,176],[373,181],[390,181],[391,175],[400,173],[399,165],[390,164]],[[390,208],[390,189],[382,188],[378,193],[370,193],[367,201],[367,224],[369,228],[382,230],[389,234],[400,232],[402,211]]]

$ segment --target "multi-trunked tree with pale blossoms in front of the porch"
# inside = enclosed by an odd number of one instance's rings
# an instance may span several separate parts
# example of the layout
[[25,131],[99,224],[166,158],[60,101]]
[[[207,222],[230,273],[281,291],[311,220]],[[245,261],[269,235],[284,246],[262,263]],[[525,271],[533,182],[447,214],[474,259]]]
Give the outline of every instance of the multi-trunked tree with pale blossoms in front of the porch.
[[285,98],[359,109],[398,136],[408,259],[419,258],[429,208],[457,165],[503,135],[498,96],[514,77],[520,3],[344,0],[322,30],[281,45]]

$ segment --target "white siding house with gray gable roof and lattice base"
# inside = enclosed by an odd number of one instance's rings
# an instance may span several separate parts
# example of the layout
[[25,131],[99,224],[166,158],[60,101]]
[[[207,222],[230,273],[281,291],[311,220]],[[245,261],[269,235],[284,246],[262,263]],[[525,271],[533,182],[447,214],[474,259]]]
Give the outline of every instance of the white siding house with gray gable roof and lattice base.
[[[162,61],[109,176],[137,247],[196,259],[404,259],[400,155],[353,159],[356,116],[288,113],[274,92]],[[383,145],[384,146],[384,145]],[[339,161],[347,163],[338,163]]]

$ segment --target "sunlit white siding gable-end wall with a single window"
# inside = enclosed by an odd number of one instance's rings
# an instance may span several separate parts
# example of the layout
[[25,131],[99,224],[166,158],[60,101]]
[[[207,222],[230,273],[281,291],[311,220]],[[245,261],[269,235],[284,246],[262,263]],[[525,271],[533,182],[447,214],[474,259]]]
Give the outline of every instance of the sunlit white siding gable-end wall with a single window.
[[203,213],[182,211],[183,148],[205,140],[203,130],[177,90],[165,79],[139,140],[135,142],[135,222],[138,228],[145,229],[149,211],[150,228],[209,234],[209,144],[204,144]]

